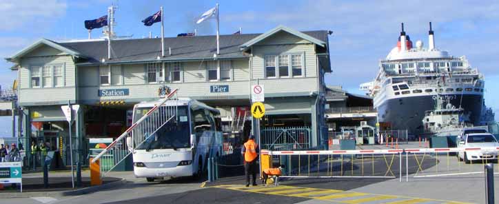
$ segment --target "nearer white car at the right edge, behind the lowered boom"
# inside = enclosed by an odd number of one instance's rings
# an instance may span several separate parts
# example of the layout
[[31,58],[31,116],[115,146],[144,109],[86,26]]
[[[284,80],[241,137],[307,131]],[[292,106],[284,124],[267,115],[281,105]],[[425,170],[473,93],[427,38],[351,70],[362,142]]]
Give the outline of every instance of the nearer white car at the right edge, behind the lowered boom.
[[[465,134],[458,143],[458,147],[471,148],[471,147],[493,147],[496,149],[499,147],[499,143],[490,133],[472,133]],[[458,153],[459,161],[482,161],[482,160],[492,160],[497,161],[498,150],[491,151],[466,151]]]

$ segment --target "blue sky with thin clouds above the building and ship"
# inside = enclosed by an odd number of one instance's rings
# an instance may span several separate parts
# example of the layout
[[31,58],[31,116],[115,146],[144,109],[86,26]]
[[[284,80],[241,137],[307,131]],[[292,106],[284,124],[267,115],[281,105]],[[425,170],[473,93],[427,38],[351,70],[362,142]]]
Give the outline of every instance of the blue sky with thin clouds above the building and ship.
[[[197,24],[197,17],[220,3],[220,32],[266,32],[278,25],[296,30],[332,30],[329,48],[333,72],[328,85],[342,85],[362,93],[358,85],[371,81],[396,45],[400,23],[413,42],[428,42],[428,22],[433,23],[436,48],[460,57],[486,76],[486,105],[499,113],[499,1],[117,1],[117,0],[0,0],[0,85],[12,86],[16,72],[3,60],[40,38],[86,39],[83,21],[107,14],[114,3],[116,33],[133,38],[161,34],[159,23],[143,26],[141,20],[163,6],[165,37],[181,32],[215,34],[214,20]],[[92,31],[100,37],[101,29]],[[498,114],[499,115],[499,114]],[[496,116],[496,119],[498,117]],[[10,121],[0,117],[0,136],[8,134]],[[4,130],[7,130],[5,132]]]

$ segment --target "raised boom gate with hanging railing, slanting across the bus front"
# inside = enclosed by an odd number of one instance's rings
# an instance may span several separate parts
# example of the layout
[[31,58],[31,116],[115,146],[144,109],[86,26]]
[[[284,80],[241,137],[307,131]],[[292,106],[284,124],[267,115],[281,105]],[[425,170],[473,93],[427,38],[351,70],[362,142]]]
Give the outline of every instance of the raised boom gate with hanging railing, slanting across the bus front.
[[[175,89],[170,94],[167,94],[165,99],[161,99],[160,103],[154,105],[141,119],[133,123],[128,130],[92,159],[92,163],[95,163],[98,159],[101,160],[101,177],[104,177],[105,174],[132,154],[134,147],[141,145],[163,125],[176,119],[177,105],[162,105],[167,101],[176,100],[177,90]],[[128,143],[131,143],[132,147],[129,147]]]

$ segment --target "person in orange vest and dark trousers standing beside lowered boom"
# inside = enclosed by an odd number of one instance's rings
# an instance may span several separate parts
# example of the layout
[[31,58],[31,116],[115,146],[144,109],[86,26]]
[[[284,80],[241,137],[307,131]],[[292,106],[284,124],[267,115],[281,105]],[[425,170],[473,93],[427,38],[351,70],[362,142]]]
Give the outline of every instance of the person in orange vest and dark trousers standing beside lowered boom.
[[256,159],[258,159],[258,144],[254,141],[254,136],[249,135],[249,139],[244,143],[241,149],[241,154],[244,157],[244,169],[246,174],[246,187],[249,186],[249,174],[253,176],[253,185],[256,185]]

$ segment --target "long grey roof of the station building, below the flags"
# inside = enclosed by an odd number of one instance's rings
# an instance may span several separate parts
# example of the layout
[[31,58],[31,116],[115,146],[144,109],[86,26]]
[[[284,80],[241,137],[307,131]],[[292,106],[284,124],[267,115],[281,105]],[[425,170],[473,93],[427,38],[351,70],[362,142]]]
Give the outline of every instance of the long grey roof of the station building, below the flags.
[[[327,31],[307,31],[304,34],[327,42]],[[261,34],[230,34],[220,36],[219,59],[247,57],[240,46]],[[77,50],[83,57],[79,64],[127,63],[154,61],[161,56],[161,39],[118,39],[111,41],[112,59],[108,60],[108,41],[74,41],[58,43],[65,48]],[[169,55],[168,48],[172,49]],[[216,53],[216,36],[169,37],[165,38],[165,57],[161,60],[212,59]]]

